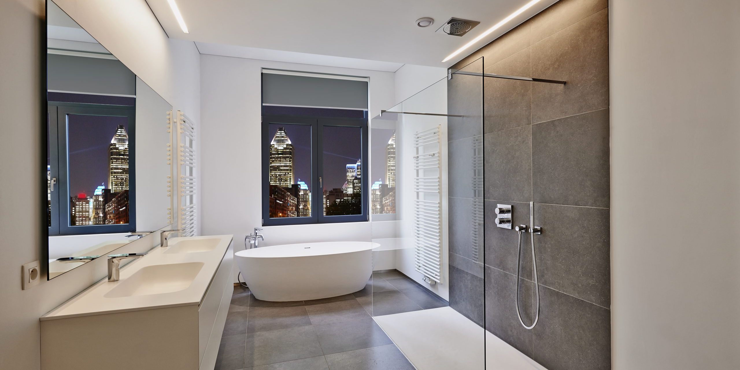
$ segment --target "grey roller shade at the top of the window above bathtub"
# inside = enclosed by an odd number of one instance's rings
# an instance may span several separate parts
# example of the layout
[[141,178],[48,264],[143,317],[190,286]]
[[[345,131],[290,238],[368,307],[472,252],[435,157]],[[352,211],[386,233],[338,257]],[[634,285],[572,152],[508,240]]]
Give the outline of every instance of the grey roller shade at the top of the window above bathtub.
[[368,109],[368,82],[262,73],[262,103]]

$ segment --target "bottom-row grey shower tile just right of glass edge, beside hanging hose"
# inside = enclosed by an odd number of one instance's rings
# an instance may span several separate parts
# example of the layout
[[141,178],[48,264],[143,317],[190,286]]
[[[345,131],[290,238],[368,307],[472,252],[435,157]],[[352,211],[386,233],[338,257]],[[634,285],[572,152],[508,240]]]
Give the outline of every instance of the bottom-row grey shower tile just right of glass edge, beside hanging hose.
[[[519,279],[519,312],[525,324],[534,320],[534,283]],[[517,317],[517,277],[485,266],[485,329],[532,357],[533,334]]]

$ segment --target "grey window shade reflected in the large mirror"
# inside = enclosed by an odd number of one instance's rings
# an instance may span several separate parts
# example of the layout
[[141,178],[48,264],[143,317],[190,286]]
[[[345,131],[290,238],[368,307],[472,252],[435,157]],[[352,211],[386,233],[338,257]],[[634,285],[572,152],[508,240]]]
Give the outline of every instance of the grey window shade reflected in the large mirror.
[[47,89],[136,95],[136,75],[115,59],[47,54]]

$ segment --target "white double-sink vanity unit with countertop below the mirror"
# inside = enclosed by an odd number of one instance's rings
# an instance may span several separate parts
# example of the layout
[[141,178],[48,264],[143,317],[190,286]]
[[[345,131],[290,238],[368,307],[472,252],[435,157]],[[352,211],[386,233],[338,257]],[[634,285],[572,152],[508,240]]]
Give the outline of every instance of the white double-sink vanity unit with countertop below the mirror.
[[[231,241],[172,238],[121,268],[121,280],[101,280],[41,317],[41,370],[212,370],[233,291]],[[178,277],[193,263],[202,264],[195,277]],[[168,274],[156,273],[163,265]],[[186,277],[189,286],[172,292]]]

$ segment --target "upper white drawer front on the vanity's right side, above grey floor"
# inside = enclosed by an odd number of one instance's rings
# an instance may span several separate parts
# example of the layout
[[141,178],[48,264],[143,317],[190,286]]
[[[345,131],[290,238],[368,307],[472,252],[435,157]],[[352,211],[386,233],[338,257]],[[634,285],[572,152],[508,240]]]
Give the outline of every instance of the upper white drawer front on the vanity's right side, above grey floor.
[[[226,292],[226,288],[232,286],[232,262],[234,260],[234,253],[232,246],[226,249],[226,253],[223,255],[221,265],[218,266],[211,284],[206,290],[206,294],[201,301],[201,306],[198,308],[198,361],[203,360],[203,354],[206,351],[209,337],[214,329],[216,321],[216,315],[218,314],[218,308],[221,306],[221,300],[224,294],[231,294],[231,291]],[[221,337],[221,334],[218,335]]]

